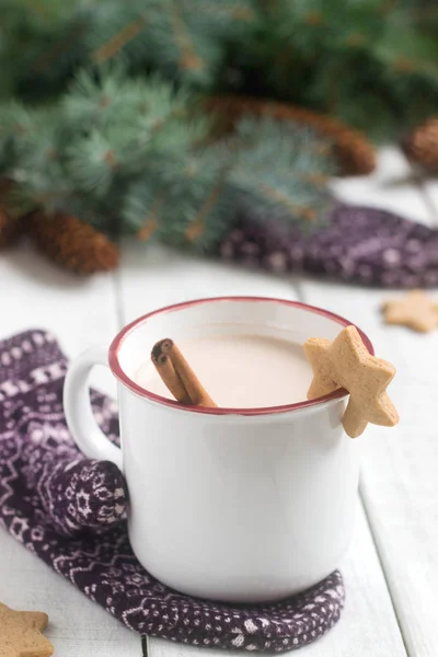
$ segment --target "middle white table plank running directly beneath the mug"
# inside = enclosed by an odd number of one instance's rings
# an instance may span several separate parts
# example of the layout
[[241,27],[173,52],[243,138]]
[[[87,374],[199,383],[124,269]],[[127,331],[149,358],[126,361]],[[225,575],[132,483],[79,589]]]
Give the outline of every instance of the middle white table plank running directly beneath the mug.
[[[297,298],[297,288],[290,277],[255,274],[140,244],[125,245],[118,288],[120,315],[125,322],[160,306],[201,296]],[[320,643],[303,648],[300,654],[309,657],[404,657],[406,653],[384,576],[360,506],[354,546],[342,569],[347,587],[343,619]],[[152,657],[164,654],[166,657],[195,657],[199,649],[151,638],[148,653]]]

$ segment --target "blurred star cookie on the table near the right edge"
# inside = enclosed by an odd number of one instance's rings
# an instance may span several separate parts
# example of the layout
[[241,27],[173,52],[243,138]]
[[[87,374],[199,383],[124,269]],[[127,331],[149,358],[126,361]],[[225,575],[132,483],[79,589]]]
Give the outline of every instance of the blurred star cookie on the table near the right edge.
[[387,324],[401,324],[420,333],[438,327],[438,303],[423,290],[412,290],[400,299],[385,301],[382,310]]

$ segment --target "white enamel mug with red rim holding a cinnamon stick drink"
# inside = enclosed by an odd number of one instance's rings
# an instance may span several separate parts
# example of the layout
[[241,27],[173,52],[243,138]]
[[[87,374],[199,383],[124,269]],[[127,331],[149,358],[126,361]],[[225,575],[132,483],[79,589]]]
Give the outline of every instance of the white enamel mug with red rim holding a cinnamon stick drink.
[[[350,542],[358,463],[341,422],[345,391],[268,408],[183,407],[134,380],[153,344],[226,333],[303,344],[333,339],[348,324],[280,299],[201,299],[151,312],[120,331],[110,353],[93,348],[72,362],[68,425],[84,454],[124,472],[130,543],[154,577],[233,602],[278,600],[316,584]],[[91,412],[88,376],[96,364],[118,380],[122,450]]]

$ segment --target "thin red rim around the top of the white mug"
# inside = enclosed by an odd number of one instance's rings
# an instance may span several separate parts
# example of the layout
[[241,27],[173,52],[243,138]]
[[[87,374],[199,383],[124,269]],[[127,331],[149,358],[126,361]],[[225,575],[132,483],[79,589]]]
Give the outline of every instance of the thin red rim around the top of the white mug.
[[[137,320],[135,320],[134,322],[131,322],[130,324],[128,324],[127,326],[122,328],[122,331],[116,335],[116,337],[113,339],[113,342],[110,346],[108,364],[110,364],[110,368],[111,368],[113,374],[124,385],[126,385],[126,388],[128,388],[129,390],[131,390],[134,393],[136,393],[137,395],[139,395],[141,397],[148,399],[152,402],[158,402],[159,404],[162,404],[164,406],[171,406],[172,408],[177,408],[178,411],[189,411],[192,413],[203,413],[203,414],[207,414],[207,415],[272,415],[274,413],[287,413],[289,411],[298,411],[300,408],[309,408],[311,406],[318,406],[320,404],[324,404],[332,400],[341,399],[341,397],[345,396],[346,394],[348,394],[346,390],[339,388],[338,390],[335,390],[334,392],[331,392],[330,394],[325,394],[324,396],[316,397],[314,400],[306,400],[303,402],[296,402],[293,404],[286,404],[283,406],[265,406],[265,407],[257,407],[257,408],[226,408],[226,407],[211,407],[211,406],[203,406],[201,407],[201,406],[191,406],[191,405],[183,406],[182,404],[180,404],[178,402],[176,402],[174,400],[168,400],[166,397],[163,397],[159,394],[150,392],[149,390],[146,390],[145,388],[141,388],[141,385],[139,385],[138,383],[132,381],[132,379],[130,379],[130,377],[128,377],[124,372],[124,370],[122,369],[120,364],[119,364],[118,351],[122,347],[123,342],[139,325],[146,323],[148,320],[157,316],[158,314],[175,312],[175,311],[182,310],[184,308],[191,308],[193,306],[199,306],[201,303],[217,303],[220,301],[237,301],[237,302],[239,302],[239,301],[240,302],[267,301],[270,303],[281,303],[283,306],[300,308],[308,312],[313,312],[315,314],[323,315],[325,318],[328,318],[328,319],[337,322],[342,326],[351,326],[351,325],[356,326],[356,324],[351,324],[351,322],[348,322],[345,318],[342,318],[341,315],[330,312],[328,310],[323,310],[323,309],[316,308],[314,306],[308,306],[307,303],[301,303],[300,301],[287,301],[285,299],[276,299],[276,298],[272,298],[272,297],[211,297],[208,299],[196,299],[194,301],[184,301],[183,303],[174,303],[172,306],[166,306],[165,308],[160,308],[159,310],[149,312],[148,314],[146,314],[141,318],[138,318]],[[371,356],[373,356],[374,349],[372,347],[371,341],[358,326],[356,326],[356,328],[358,330],[360,337],[362,338],[362,342],[364,342],[365,346],[367,347],[368,351],[371,354]]]

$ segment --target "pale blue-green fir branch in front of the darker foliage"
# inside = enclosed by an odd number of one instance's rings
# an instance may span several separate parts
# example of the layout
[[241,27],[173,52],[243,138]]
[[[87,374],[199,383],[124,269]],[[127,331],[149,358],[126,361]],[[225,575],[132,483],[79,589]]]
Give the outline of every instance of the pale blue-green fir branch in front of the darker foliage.
[[303,229],[322,221],[333,170],[325,141],[291,123],[242,118],[215,142],[198,112],[184,89],[112,71],[82,73],[49,113],[10,108],[18,205],[199,252],[217,249],[241,207]]

